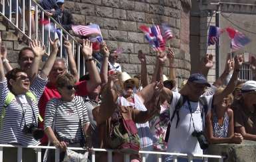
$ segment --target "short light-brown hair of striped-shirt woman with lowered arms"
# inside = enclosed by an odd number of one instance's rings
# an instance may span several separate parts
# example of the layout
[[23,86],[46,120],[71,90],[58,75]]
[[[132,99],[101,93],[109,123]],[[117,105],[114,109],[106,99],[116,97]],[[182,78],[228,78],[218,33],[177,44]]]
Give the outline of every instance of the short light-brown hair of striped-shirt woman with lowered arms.
[[63,73],[62,75],[59,75],[56,82],[57,88],[62,88],[65,85],[75,85],[76,79],[73,75],[69,73]]

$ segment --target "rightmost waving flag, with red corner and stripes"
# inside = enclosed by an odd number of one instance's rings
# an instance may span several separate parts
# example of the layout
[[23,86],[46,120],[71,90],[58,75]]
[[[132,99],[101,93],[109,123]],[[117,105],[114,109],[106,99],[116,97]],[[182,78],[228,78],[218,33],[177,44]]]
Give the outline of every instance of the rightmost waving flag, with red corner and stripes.
[[229,34],[229,38],[231,38],[231,49],[232,50],[240,50],[244,48],[245,45],[249,44],[251,40],[245,36],[243,33],[235,30],[233,28],[226,28],[227,33]]

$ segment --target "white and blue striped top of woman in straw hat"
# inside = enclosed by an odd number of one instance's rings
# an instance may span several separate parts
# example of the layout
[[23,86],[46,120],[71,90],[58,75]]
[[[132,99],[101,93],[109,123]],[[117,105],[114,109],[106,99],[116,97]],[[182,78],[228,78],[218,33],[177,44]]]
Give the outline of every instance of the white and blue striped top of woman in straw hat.
[[[134,95],[134,103],[127,101],[124,97],[118,97],[118,102],[120,102],[122,106],[134,106],[136,110],[147,110],[146,106],[140,101],[140,97],[136,94]],[[156,138],[154,138],[150,132],[149,122],[143,124],[136,123],[136,126],[138,128],[138,135],[140,136],[140,147],[148,147],[156,142]]]

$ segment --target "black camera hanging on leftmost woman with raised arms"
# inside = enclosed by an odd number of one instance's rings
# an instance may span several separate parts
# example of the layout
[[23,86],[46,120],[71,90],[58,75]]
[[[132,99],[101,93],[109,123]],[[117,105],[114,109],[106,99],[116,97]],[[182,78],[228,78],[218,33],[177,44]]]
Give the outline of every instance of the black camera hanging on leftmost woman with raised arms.
[[38,128],[34,123],[25,124],[23,128],[23,133],[32,134],[35,140],[40,140],[44,136],[44,131],[41,128]]

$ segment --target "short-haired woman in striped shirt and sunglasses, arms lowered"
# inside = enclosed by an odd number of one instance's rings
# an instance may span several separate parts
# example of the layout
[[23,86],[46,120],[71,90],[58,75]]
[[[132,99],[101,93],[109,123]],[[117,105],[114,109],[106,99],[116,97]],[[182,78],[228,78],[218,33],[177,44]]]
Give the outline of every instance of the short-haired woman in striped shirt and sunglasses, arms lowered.
[[69,73],[60,75],[56,84],[61,99],[51,99],[45,109],[45,133],[50,142],[62,150],[61,161],[67,146],[83,147],[86,144],[91,147],[90,121],[84,100],[74,95],[75,83],[76,79]]

